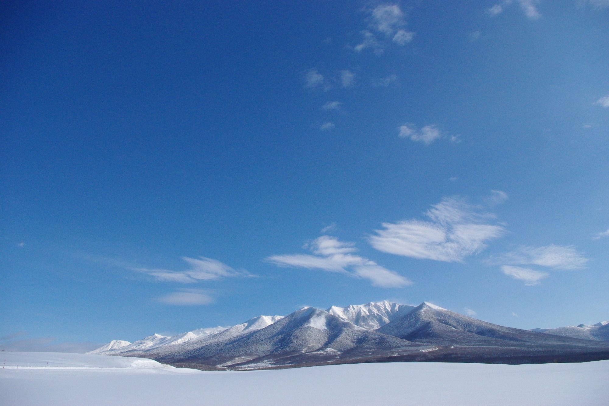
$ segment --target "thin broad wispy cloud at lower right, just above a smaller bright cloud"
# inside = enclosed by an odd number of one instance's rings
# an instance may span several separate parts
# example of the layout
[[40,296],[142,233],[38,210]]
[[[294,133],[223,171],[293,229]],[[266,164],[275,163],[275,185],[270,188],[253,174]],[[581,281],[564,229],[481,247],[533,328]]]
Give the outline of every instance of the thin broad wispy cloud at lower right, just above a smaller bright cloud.
[[520,246],[514,251],[494,258],[496,262],[510,265],[538,265],[553,269],[582,269],[588,258],[574,246],[547,245],[541,247]]

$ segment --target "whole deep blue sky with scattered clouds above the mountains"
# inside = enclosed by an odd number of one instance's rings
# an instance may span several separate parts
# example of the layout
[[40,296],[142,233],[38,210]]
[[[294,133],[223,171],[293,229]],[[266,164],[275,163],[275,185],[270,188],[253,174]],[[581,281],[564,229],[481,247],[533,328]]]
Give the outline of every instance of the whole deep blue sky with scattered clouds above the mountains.
[[3,346],[609,317],[606,0],[2,7]]

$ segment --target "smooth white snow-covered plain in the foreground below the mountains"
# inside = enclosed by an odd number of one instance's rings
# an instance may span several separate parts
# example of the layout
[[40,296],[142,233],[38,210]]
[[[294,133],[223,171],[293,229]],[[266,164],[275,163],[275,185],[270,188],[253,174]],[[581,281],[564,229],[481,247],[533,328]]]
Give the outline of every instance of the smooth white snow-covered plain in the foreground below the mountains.
[[609,361],[203,372],[109,355],[2,352],[0,358],[6,360],[2,405],[607,405],[609,382]]

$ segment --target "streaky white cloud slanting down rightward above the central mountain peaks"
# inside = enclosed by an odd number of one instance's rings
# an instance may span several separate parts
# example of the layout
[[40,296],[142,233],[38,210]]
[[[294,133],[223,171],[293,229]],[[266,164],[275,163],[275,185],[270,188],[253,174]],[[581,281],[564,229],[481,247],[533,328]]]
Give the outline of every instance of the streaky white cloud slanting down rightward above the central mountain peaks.
[[310,249],[314,255],[272,255],[266,258],[266,261],[278,266],[340,272],[351,277],[368,279],[373,286],[382,288],[401,288],[412,284],[397,272],[354,254],[357,251],[354,243],[346,243],[336,237],[322,235],[306,244],[305,248]]

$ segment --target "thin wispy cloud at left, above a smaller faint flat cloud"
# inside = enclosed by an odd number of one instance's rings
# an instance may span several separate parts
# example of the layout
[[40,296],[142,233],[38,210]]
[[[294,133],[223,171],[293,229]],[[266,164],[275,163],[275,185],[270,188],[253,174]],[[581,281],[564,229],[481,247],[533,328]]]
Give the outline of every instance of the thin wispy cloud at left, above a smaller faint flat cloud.
[[245,270],[237,271],[230,266],[212,258],[199,257],[182,259],[190,265],[186,271],[171,271],[169,269],[131,268],[143,272],[160,282],[197,283],[202,280],[217,280],[225,277],[252,277]]

